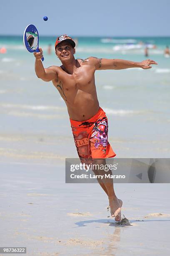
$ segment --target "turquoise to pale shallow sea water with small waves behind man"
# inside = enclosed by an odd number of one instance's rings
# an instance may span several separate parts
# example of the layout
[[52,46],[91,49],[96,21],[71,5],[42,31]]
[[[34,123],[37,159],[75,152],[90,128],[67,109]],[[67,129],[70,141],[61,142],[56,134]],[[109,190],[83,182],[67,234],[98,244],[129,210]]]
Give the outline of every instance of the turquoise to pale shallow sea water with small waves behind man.
[[[77,40],[76,58],[96,56],[132,61],[149,58],[158,62],[148,70],[97,71],[95,81],[100,106],[109,119],[109,141],[117,156],[169,157],[170,58],[165,58],[163,51],[166,45],[170,46],[170,37],[77,37]],[[143,45],[139,45],[141,41]],[[51,55],[47,54],[49,44],[52,44]],[[54,44],[55,37],[40,37],[44,67],[61,64],[55,56]],[[145,44],[149,47],[147,58]],[[52,82],[36,77],[35,58],[26,51],[23,38],[0,36],[2,46],[7,53],[0,54],[0,135],[5,141],[1,140],[1,145],[7,147],[7,138],[11,146],[11,141],[20,136],[25,136],[25,140],[41,136],[47,141],[44,151],[50,150],[53,143],[61,157],[77,157],[65,102]]]

